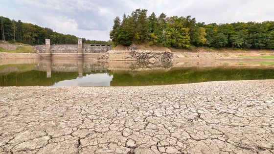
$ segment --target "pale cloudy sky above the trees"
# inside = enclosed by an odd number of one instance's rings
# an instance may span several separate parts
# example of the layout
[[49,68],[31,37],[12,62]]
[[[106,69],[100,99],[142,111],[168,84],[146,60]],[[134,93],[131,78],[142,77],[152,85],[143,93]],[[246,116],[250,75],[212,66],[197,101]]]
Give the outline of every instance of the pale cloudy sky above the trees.
[[0,5],[0,16],[105,41],[113,19],[138,8],[205,23],[274,21],[274,0],[0,0]]

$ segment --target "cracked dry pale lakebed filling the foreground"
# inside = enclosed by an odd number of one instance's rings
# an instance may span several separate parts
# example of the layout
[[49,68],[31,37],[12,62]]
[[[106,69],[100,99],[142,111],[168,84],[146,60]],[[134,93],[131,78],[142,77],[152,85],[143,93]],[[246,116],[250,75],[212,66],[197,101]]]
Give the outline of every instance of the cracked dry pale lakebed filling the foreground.
[[273,154],[274,80],[0,88],[0,153]]

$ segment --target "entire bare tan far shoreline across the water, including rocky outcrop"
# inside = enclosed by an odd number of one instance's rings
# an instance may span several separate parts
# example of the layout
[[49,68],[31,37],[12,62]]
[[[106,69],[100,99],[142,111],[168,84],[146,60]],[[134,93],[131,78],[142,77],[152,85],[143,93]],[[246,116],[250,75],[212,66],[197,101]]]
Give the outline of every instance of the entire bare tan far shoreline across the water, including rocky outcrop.
[[[181,60],[244,60],[273,56],[274,53],[218,53],[218,52],[170,52],[152,50],[110,50],[107,53],[84,53],[83,58],[94,61],[139,61],[170,63]],[[0,59],[43,58],[46,54],[0,52]],[[257,58],[256,58],[257,57]],[[54,60],[77,59],[77,53],[52,53]]]

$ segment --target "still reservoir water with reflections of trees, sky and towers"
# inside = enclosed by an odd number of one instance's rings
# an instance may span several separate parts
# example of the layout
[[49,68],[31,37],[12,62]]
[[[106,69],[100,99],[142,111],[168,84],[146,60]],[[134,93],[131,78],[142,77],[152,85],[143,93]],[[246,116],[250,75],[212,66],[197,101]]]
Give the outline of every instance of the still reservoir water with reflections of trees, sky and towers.
[[274,79],[274,61],[170,64],[89,60],[0,60],[0,86],[149,86]]

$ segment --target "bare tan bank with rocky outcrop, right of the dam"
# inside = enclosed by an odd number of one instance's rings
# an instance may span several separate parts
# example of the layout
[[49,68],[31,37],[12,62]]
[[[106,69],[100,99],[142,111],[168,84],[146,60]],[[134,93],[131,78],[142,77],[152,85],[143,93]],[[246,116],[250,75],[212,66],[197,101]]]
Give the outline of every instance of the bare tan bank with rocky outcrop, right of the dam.
[[110,50],[102,54],[98,60],[103,61],[155,61],[172,62],[180,60],[240,60],[260,59],[260,56],[273,56],[274,53],[219,53],[219,52],[171,52],[155,50]]

